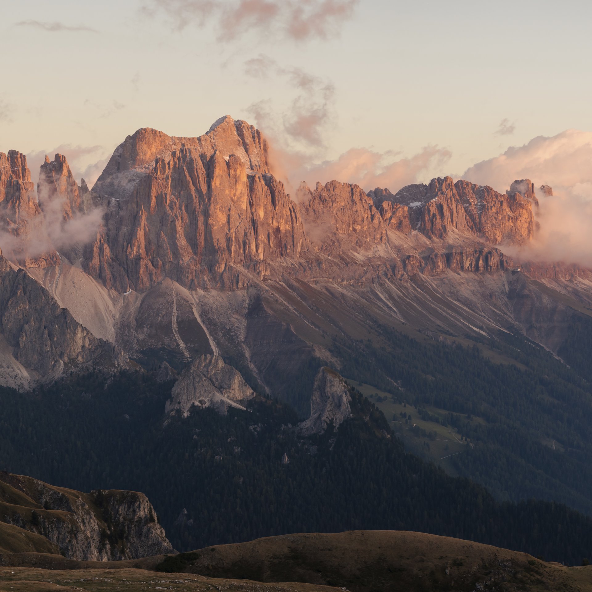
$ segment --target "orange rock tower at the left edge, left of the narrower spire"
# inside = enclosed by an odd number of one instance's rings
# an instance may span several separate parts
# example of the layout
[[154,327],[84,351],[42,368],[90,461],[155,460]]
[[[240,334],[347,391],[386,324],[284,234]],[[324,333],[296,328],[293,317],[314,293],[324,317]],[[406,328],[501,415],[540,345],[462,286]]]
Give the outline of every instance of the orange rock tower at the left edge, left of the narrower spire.
[[27,157],[16,150],[0,152],[0,248],[4,255],[30,267],[54,264],[55,253],[29,248],[31,240],[44,240],[42,220]]

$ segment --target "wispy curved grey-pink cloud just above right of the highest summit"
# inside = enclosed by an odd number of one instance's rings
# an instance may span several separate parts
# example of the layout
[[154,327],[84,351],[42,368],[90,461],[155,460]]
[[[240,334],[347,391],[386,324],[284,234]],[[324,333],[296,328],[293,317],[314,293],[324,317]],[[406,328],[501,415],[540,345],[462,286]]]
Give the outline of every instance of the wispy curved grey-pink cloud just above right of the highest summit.
[[252,78],[287,79],[298,94],[288,109],[275,112],[271,102],[258,101],[247,110],[255,124],[284,149],[321,149],[333,121],[335,88],[329,80],[298,67],[282,67],[264,54],[244,62]]

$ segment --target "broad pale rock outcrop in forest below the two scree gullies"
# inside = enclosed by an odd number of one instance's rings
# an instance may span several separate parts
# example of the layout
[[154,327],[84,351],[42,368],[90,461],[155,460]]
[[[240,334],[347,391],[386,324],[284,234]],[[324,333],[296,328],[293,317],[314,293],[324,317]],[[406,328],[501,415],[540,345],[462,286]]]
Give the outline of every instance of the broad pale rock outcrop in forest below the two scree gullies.
[[181,411],[181,416],[187,417],[193,406],[213,407],[224,414],[229,407],[244,409],[239,401],[254,396],[239,371],[220,356],[203,355],[182,372],[166,402],[165,414]]

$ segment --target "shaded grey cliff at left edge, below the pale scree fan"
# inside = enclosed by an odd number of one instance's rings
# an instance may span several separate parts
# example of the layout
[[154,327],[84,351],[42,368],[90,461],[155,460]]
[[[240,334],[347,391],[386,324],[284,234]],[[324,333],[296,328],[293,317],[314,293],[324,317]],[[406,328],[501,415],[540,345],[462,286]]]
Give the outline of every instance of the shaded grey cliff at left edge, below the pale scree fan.
[[22,371],[31,370],[28,379],[59,375],[65,366],[88,362],[109,349],[27,272],[14,269],[2,256],[0,336],[2,355],[18,362]]

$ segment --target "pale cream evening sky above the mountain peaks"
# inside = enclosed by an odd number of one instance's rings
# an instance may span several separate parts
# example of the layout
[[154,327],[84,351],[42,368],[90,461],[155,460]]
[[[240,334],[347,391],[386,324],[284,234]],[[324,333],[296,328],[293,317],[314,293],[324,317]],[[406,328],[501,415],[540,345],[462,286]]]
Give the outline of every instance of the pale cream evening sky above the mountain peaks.
[[592,131],[590,2],[0,0],[0,14],[0,151],[70,144],[77,170],[137,128],[198,136],[226,114],[258,113],[310,163],[439,146],[440,175]]

